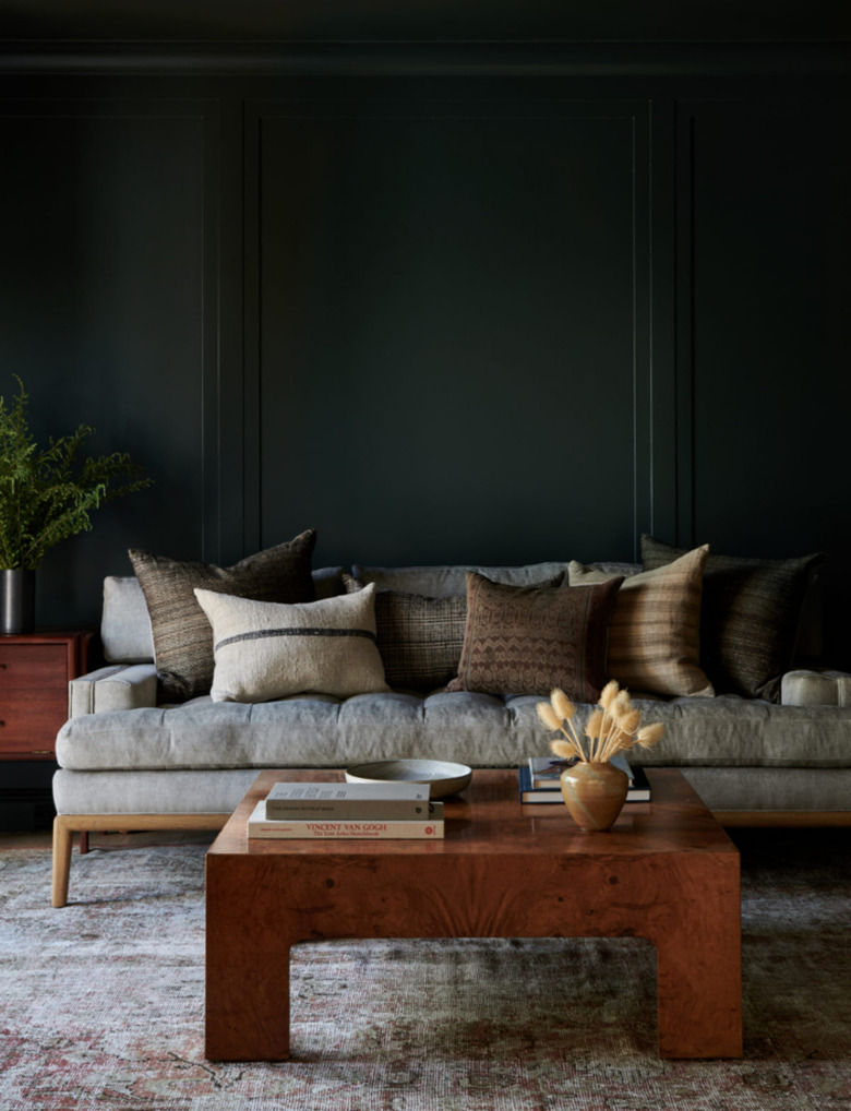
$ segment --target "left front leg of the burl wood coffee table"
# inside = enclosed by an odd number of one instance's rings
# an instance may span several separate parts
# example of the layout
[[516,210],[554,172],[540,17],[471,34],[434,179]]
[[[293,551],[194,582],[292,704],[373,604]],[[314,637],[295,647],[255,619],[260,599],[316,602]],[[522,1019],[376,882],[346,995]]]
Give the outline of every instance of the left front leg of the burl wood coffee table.
[[234,877],[207,870],[204,1057],[286,1061],[290,1055],[290,947],[280,912]]

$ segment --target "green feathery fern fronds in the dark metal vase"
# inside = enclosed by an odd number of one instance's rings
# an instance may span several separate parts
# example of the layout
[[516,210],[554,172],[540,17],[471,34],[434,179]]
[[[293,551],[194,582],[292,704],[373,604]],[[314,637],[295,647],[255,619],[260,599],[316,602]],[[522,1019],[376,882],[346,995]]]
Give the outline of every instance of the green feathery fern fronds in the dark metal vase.
[[[27,420],[29,398],[17,381],[9,404],[0,397],[0,568],[34,570],[54,544],[91,529],[92,510],[151,480],[126,452],[80,459],[94,433],[88,424],[39,448]],[[116,484],[121,476],[126,481]]]

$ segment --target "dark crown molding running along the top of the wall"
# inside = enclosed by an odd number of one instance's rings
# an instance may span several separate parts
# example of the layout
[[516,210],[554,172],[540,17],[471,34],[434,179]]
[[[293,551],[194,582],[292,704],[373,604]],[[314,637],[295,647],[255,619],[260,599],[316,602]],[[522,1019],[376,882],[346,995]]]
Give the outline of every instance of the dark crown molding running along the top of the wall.
[[84,42],[0,40],[8,76],[847,77],[851,41]]

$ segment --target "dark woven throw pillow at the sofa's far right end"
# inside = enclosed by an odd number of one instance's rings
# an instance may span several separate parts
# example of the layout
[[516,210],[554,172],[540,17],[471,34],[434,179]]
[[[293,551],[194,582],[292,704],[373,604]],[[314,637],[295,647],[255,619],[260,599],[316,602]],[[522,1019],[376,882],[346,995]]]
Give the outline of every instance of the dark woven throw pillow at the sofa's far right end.
[[[645,570],[684,552],[654,537],[641,538]],[[780,700],[810,577],[824,559],[823,552],[784,560],[710,554],[703,570],[700,663],[717,693]]]

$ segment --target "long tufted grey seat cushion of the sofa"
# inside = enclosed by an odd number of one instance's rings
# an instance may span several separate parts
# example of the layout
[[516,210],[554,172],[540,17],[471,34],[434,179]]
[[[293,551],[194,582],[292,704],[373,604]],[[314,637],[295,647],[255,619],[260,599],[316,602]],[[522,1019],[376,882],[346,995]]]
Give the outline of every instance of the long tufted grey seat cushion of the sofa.
[[[296,695],[279,702],[214,703],[209,697],[157,709],[87,714],[66,722],[57,759],[77,771],[342,768],[362,760],[430,757],[478,768],[515,768],[545,754],[550,734],[537,695],[471,691]],[[851,767],[851,718],[842,707],[782,707],[724,695],[670,702],[634,699],[665,734],[635,749],[635,763],[665,767]],[[590,707],[579,707],[582,722]]]

